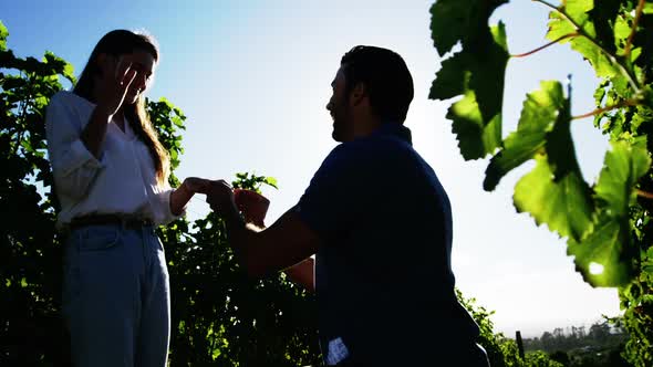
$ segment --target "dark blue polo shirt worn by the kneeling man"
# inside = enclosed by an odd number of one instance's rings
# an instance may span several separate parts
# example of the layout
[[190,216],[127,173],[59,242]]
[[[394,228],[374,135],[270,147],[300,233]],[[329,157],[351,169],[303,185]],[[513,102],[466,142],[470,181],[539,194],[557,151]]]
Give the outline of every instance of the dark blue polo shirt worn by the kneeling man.
[[315,293],[325,358],[331,344],[348,360],[433,361],[478,336],[454,291],[449,200],[408,128],[388,123],[336,146],[297,211],[324,240]]

